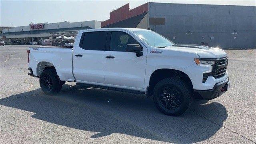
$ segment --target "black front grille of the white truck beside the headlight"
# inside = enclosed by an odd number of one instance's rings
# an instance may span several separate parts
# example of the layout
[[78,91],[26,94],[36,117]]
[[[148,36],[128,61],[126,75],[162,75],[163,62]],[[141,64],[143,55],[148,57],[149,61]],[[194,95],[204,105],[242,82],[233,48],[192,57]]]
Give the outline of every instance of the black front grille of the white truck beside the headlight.
[[228,66],[227,58],[216,58],[216,59],[202,59],[202,60],[212,60],[215,64],[212,66],[212,72],[204,73],[202,82],[205,83],[209,76],[213,76],[214,78],[221,78],[226,74],[226,69]]

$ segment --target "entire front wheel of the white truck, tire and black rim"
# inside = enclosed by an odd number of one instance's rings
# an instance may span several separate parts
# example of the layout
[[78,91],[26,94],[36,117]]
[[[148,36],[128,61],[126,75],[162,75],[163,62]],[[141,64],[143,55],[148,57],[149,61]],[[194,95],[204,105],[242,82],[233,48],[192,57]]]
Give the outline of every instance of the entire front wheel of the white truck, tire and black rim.
[[158,110],[166,115],[179,116],[192,101],[190,87],[181,79],[166,78],[154,87],[153,99]]

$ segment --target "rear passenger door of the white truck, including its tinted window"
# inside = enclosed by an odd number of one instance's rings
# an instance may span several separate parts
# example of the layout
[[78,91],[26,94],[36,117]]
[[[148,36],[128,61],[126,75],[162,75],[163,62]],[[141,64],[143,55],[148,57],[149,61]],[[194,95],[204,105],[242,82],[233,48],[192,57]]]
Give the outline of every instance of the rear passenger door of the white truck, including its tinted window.
[[74,76],[77,82],[104,84],[104,49],[107,31],[84,32],[74,49]]

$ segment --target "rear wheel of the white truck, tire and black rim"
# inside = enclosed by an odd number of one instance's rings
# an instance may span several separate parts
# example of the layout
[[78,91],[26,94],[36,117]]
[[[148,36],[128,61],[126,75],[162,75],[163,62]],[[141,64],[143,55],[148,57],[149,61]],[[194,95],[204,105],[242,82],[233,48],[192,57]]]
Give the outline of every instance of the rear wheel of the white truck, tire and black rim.
[[40,75],[40,87],[47,95],[55,95],[60,92],[63,82],[60,81],[54,68],[44,70]]

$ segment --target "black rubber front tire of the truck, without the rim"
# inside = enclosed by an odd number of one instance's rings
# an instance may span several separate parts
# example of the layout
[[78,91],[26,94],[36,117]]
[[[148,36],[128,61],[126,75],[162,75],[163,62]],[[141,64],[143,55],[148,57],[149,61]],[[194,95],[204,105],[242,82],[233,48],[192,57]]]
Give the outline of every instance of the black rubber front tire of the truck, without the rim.
[[[174,110],[170,110],[166,108],[160,101],[160,92],[166,86],[171,86],[172,88],[176,88],[176,90],[180,93],[181,103],[178,108]],[[170,116],[179,116],[183,114],[191,105],[192,102],[192,90],[180,78],[165,78],[159,81],[156,86],[154,87],[153,91],[153,100],[156,108],[162,112],[163,114],[170,115]]]

